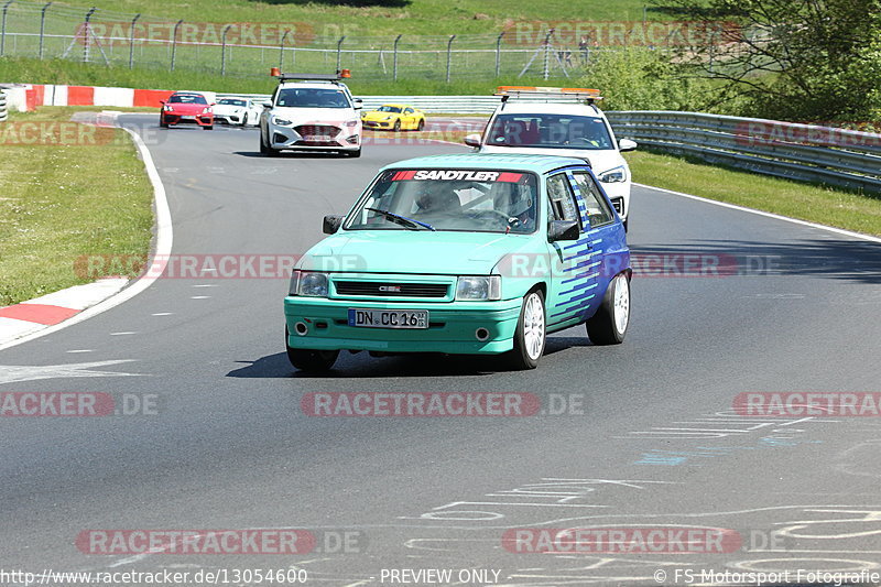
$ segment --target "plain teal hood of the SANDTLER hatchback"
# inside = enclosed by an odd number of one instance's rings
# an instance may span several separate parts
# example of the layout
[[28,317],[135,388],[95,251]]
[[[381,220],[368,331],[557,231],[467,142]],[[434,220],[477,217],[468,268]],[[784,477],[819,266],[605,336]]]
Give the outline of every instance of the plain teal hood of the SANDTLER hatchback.
[[488,274],[534,235],[431,230],[345,230],[309,249],[301,269],[442,275]]

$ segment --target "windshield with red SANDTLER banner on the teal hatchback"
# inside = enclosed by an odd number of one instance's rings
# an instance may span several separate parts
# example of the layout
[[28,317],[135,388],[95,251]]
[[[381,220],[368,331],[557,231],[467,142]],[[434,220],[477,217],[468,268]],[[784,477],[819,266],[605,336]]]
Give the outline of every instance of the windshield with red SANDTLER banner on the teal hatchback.
[[[351,230],[406,230],[388,214],[435,230],[533,232],[537,182],[531,173],[488,170],[392,170],[349,215]],[[368,208],[373,208],[368,209]],[[381,211],[377,211],[381,210]]]

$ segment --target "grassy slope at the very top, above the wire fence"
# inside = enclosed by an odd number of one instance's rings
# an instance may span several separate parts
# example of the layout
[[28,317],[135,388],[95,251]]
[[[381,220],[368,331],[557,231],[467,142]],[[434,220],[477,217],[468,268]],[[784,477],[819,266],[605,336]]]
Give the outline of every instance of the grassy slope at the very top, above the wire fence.
[[[357,1],[350,2],[352,4]],[[191,22],[303,23],[320,36],[448,35],[500,32],[515,21],[642,20],[648,0],[377,0],[347,6],[341,0],[68,0],[59,7],[185,19]],[[650,19],[668,18],[651,10]]]

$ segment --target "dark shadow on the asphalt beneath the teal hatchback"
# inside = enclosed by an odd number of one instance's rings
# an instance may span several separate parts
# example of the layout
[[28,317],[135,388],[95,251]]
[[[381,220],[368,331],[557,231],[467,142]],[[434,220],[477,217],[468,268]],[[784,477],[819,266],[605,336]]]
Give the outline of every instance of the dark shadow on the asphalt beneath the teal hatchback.
[[[544,357],[556,352],[590,346],[587,336],[550,336]],[[287,361],[285,352],[261,357],[255,361],[236,361],[243,366],[227,373],[227,377],[243,379],[348,379],[348,378],[398,378],[398,377],[458,377],[516,373],[511,371],[500,356],[469,356],[412,354],[390,357],[371,357],[367,352],[352,355],[341,351],[333,370],[327,373],[296,371]],[[542,366],[539,366],[541,369]]]

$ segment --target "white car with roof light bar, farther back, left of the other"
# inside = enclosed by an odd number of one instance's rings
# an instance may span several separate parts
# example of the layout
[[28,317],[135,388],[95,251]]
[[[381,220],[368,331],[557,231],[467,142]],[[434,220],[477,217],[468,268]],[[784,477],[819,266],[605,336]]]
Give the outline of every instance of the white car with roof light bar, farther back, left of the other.
[[260,152],[284,149],[361,156],[361,100],[339,75],[280,74],[260,116]]

